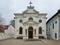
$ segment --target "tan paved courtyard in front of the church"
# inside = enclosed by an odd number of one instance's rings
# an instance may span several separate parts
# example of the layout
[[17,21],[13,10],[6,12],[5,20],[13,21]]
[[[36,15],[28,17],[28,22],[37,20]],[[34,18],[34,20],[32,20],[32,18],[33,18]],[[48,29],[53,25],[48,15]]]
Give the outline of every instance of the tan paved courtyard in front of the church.
[[0,45],[60,45],[60,41],[41,39],[39,41],[25,41],[22,39],[1,40]]

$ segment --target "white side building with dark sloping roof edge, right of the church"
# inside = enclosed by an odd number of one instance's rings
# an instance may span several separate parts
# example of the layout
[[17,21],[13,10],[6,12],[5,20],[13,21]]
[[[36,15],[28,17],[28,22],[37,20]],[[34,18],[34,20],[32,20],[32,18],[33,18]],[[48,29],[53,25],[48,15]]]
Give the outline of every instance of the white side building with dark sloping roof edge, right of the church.
[[60,39],[60,10],[47,21],[47,38]]

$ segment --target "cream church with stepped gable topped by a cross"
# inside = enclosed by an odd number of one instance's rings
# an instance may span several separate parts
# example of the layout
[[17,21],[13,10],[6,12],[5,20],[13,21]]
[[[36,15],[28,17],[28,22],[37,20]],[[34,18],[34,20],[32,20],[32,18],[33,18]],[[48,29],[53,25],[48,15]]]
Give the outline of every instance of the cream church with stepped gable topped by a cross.
[[39,13],[34,6],[27,6],[22,13],[15,15],[15,38],[41,39],[46,35],[46,13]]

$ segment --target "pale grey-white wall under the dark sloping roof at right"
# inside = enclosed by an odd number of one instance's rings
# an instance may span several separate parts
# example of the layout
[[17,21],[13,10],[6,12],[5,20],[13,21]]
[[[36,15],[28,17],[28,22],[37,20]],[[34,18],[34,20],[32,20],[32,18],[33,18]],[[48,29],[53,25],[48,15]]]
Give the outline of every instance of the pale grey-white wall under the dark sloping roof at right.
[[[55,23],[57,21],[57,24]],[[54,23],[54,29],[52,27]],[[50,27],[50,30],[49,30]],[[55,33],[57,33],[57,39],[55,38]],[[56,16],[47,23],[47,34],[50,34],[48,38],[58,40],[59,39],[59,17]]]

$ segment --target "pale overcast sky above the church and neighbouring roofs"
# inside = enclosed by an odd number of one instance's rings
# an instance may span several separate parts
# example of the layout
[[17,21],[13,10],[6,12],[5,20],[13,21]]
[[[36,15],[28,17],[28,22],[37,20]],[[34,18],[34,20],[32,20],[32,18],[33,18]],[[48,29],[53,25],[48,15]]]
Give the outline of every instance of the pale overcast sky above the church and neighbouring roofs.
[[60,0],[0,0],[0,16],[9,24],[14,18],[14,13],[22,13],[29,6],[29,2],[40,13],[47,13],[47,19],[60,9]]

